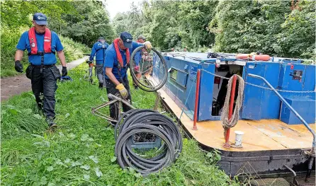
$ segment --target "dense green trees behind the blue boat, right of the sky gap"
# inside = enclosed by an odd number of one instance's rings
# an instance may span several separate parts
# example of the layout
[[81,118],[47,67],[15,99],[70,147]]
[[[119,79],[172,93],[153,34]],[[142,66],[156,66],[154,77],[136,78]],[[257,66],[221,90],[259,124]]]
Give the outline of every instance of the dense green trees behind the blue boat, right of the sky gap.
[[[294,2],[294,4],[293,4]],[[315,1],[143,1],[115,16],[115,32],[145,35],[154,47],[263,52],[315,59]]]

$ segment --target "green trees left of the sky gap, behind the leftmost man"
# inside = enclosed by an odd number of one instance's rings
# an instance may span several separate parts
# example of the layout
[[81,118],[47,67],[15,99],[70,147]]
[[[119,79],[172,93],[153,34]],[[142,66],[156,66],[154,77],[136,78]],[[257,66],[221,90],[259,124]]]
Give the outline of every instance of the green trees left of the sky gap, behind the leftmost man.
[[15,30],[32,26],[33,13],[45,13],[48,27],[59,35],[92,45],[103,36],[113,40],[114,31],[102,1],[1,1],[1,25]]

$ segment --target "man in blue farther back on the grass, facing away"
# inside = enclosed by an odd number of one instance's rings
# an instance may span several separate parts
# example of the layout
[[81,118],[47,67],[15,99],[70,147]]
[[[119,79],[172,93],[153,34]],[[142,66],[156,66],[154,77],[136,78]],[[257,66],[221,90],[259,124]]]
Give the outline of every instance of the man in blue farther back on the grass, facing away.
[[108,43],[104,40],[104,37],[98,37],[98,42],[94,43],[90,54],[89,61],[94,61],[96,56],[96,76],[98,77],[98,88],[103,88],[103,62],[106,54]]

